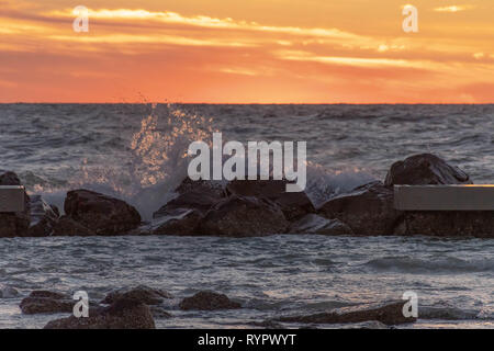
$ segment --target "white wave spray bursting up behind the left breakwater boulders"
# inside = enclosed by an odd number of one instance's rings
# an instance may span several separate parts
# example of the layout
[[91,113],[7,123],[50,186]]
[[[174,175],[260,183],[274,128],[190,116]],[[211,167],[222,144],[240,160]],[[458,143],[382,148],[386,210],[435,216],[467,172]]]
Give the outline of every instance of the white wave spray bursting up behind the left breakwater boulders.
[[171,104],[151,113],[133,134],[119,165],[105,156],[85,158],[81,172],[68,181],[68,189],[85,188],[123,199],[136,206],[144,219],[150,219],[187,177],[190,143],[211,145],[213,118],[186,113]]

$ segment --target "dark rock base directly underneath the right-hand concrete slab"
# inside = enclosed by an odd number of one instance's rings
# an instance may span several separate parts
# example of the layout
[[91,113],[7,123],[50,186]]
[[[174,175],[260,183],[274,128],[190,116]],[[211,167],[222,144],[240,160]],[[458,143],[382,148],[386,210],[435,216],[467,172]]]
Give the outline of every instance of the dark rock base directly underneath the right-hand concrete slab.
[[396,235],[494,238],[494,211],[406,212]]

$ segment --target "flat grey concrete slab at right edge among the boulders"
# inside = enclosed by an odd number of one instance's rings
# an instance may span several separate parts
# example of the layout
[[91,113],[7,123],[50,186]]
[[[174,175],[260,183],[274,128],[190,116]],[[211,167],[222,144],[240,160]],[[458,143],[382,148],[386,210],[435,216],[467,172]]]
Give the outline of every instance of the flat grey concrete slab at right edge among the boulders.
[[494,211],[494,184],[394,185],[398,211]]

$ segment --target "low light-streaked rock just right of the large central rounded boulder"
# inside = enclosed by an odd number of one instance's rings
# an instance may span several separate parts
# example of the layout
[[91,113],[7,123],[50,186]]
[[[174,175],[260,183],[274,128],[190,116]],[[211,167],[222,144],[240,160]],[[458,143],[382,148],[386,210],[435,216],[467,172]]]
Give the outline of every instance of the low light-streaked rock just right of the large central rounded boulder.
[[351,235],[353,230],[338,219],[327,219],[316,214],[308,214],[294,222],[290,227],[292,234]]

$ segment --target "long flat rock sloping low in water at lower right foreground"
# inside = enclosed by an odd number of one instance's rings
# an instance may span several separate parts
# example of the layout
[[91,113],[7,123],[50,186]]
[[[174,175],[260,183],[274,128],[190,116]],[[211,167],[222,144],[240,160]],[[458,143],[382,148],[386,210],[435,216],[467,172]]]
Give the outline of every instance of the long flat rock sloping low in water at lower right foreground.
[[403,306],[406,302],[388,304],[370,304],[352,307],[344,307],[329,313],[321,313],[308,316],[281,317],[276,319],[282,322],[302,324],[356,324],[368,320],[377,320],[384,325],[401,325],[416,321],[414,317],[403,316]]

